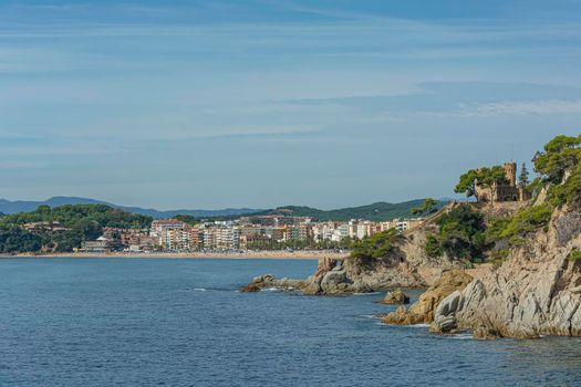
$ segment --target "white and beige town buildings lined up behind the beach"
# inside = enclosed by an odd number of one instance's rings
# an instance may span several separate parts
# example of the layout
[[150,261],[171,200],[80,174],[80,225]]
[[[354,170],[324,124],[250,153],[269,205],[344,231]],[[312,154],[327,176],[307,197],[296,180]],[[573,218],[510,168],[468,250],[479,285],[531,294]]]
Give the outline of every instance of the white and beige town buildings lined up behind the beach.
[[[103,234],[83,242],[80,252],[132,253],[227,252],[246,250],[281,250],[291,247],[341,248],[352,240],[362,240],[377,232],[400,232],[421,224],[423,218],[394,219],[385,222],[351,220],[315,222],[311,218],[284,215],[247,216],[237,220],[206,221],[196,224],[178,219],[154,220],[149,229],[104,228]],[[25,224],[28,229],[41,224]],[[60,224],[44,224],[55,230]]]

